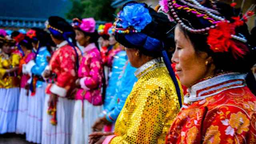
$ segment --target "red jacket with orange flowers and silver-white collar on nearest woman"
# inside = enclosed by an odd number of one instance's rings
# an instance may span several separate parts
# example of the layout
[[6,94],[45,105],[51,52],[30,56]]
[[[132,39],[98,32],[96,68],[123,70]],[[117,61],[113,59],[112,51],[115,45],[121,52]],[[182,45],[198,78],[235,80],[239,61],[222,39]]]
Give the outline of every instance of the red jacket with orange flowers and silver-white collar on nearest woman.
[[192,86],[166,144],[256,144],[256,96],[244,78],[228,73]]

